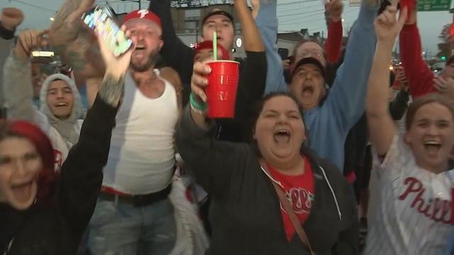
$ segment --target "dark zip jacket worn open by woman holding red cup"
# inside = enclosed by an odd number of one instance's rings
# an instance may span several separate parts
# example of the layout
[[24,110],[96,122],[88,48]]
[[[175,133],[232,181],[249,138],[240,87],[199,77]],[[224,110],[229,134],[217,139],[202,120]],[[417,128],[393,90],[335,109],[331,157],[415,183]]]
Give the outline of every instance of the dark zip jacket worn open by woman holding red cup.
[[[214,125],[210,130],[198,128],[186,108],[176,138],[184,162],[211,195],[213,237],[207,254],[309,254],[297,235],[287,241],[279,198],[260,169],[254,149],[216,141],[213,132]],[[314,169],[315,200],[303,225],[314,251],[318,255],[358,254],[352,187],[334,164],[309,149],[301,152]]]

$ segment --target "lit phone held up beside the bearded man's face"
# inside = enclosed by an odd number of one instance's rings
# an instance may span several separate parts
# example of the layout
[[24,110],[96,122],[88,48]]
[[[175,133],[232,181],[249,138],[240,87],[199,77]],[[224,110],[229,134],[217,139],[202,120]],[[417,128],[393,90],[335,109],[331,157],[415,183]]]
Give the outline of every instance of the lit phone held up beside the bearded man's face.
[[133,41],[126,36],[114,21],[111,8],[96,6],[82,16],[82,21],[101,36],[116,57],[122,55],[133,45]]

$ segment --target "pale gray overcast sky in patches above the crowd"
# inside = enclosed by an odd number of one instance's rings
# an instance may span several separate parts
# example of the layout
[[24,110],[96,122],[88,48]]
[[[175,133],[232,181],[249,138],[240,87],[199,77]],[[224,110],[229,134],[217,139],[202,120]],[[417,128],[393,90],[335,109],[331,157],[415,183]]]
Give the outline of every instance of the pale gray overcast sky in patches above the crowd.
[[[57,11],[63,1],[64,0],[0,0],[0,8],[9,6],[21,8],[26,15],[26,19],[21,28],[43,29],[50,25],[49,18],[55,15],[55,11]],[[108,2],[120,13],[138,8],[137,3],[128,1],[114,0]],[[148,7],[148,3],[148,1],[143,1],[143,8],[144,6]],[[359,8],[348,6],[348,1],[344,1],[344,4],[344,28],[348,29],[358,17]],[[326,36],[326,26],[323,21],[323,6],[321,0],[278,0],[277,16],[279,18],[279,31],[281,32],[309,28],[310,33],[324,31]],[[448,11],[419,12],[418,18],[423,50],[428,50],[434,55],[438,51],[437,44],[440,42],[438,35],[440,34],[443,25],[453,21],[453,15],[448,13]]]

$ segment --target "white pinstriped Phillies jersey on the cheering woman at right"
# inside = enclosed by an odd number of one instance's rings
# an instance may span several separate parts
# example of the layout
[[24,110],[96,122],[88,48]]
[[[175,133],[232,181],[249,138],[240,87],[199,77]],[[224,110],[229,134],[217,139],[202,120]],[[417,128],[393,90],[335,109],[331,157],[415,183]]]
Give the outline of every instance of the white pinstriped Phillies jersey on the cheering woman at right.
[[[416,166],[414,154],[395,135],[384,161],[374,154],[367,254],[443,254],[451,231],[451,175]],[[373,209],[373,211],[371,210]]]

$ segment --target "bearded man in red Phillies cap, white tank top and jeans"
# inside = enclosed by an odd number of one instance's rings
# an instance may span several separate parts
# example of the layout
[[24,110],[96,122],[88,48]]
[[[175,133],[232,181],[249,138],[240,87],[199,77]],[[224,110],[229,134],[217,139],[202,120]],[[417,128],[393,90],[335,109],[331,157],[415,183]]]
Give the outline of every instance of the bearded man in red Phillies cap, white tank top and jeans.
[[135,48],[88,246],[93,255],[169,254],[176,233],[167,196],[175,169],[177,91],[154,68],[163,45],[160,18],[133,11],[123,26]]

